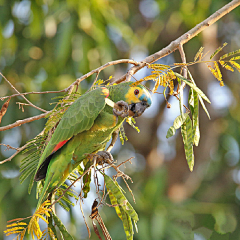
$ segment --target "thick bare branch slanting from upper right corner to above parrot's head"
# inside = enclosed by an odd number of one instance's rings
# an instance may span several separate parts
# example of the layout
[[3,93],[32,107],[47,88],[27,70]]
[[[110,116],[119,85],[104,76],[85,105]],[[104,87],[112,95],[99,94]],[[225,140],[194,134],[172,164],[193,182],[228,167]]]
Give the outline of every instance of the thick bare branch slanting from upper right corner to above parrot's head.
[[220,18],[222,18],[227,13],[231,12],[233,9],[238,7],[240,5],[240,0],[233,0],[218,11],[216,11],[214,14],[212,14],[210,17],[205,19],[203,22],[196,25],[194,28],[189,30],[187,33],[183,34],[181,37],[177,38],[175,41],[172,41],[167,47],[163,48],[162,50],[146,57],[143,61],[139,63],[139,65],[134,66],[130,68],[130,70],[120,77],[119,79],[115,80],[113,83],[120,83],[123,81],[130,81],[131,75],[135,74],[137,71],[145,67],[149,63],[156,62],[160,58],[163,58],[170,53],[174,52],[179,48],[180,45],[183,45],[187,43],[190,39],[197,36],[200,32],[202,32],[205,28],[211,26],[213,23],[218,21]]

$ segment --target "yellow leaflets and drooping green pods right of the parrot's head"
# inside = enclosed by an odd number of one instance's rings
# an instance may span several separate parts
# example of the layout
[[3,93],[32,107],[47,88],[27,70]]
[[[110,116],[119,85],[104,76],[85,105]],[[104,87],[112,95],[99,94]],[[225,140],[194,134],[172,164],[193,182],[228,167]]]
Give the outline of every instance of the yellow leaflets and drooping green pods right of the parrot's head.
[[[169,138],[175,135],[176,130],[181,128],[186,160],[190,171],[193,171],[194,166],[193,146],[198,146],[200,140],[199,102],[209,119],[210,115],[203,100],[208,103],[211,102],[208,97],[202,92],[202,90],[196,86],[190,71],[188,71],[189,79],[186,79],[181,74],[174,72],[173,69],[176,67],[181,67],[182,70],[183,68],[187,68],[193,64],[205,63],[213,76],[220,82],[220,86],[224,86],[220,66],[232,72],[235,68],[240,72],[240,64],[236,62],[237,60],[240,60],[240,49],[226,53],[222,55],[218,60],[212,60],[218,53],[222,51],[226,45],[227,43],[224,43],[223,46],[217,48],[216,51],[210,56],[210,60],[208,61],[203,60],[205,57],[203,54],[204,48],[201,47],[194,57],[194,62],[175,63],[174,66],[163,64],[149,64],[148,68],[153,69],[151,74],[136,82],[138,84],[143,81],[153,80],[155,82],[154,88],[152,90],[153,93],[157,91],[159,86],[163,86],[163,95],[165,99],[166,89],[168,88],[168,95],[174,95],[179,100],[180,115],[174,120],[173,126],[168,129],[166,137]],[[213,66],[210,64],[213,64]],[[174,91],[174,81],[176,81],[176,84],[178,84],[176,91]],[[189,86],[188,107],[183,105],[184,85]],[[186,113],[183,111],[184,107],[186,108]]]

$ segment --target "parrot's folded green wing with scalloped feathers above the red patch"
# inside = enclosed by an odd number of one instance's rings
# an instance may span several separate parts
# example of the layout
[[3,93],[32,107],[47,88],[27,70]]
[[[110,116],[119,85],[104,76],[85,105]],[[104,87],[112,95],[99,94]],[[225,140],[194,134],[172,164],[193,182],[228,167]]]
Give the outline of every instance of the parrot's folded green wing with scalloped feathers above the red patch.
[[74,135],[89,130],[99,113],[105,107],[106,88],[97,88],[79,97],[64,113],[51,140],[44,149],[37,170],[45,158],[51,154],[56,144]]

